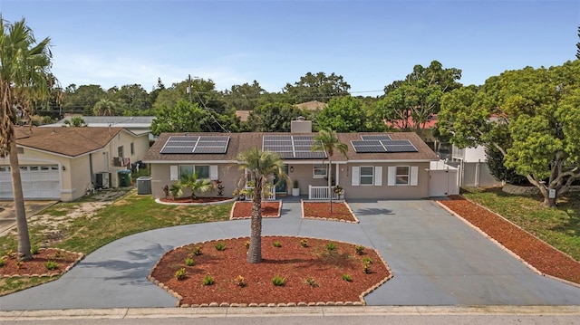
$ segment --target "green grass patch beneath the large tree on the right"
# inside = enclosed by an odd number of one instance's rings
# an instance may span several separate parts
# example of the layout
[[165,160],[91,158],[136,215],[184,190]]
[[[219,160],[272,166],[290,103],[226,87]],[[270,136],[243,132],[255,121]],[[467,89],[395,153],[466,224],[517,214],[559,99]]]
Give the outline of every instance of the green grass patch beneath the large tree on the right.
[[580,192],[560,197],[556,208],[541,206],[539,196],[514,196],[499,188],[469,188],[462,195],[580,261]]

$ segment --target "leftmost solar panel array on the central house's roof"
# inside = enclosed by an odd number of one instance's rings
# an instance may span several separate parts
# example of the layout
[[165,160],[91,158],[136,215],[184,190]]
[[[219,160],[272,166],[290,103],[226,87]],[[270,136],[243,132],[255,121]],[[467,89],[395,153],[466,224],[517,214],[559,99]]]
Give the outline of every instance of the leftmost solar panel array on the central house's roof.
[[227,136],[173,136],[167,139],[162,154],[225,154]]

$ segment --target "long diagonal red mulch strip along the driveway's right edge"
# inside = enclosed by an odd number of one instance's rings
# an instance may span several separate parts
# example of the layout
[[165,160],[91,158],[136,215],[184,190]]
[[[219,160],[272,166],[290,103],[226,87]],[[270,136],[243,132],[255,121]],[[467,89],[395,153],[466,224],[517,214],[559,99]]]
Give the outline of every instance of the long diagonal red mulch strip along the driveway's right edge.
[[539,272],[580,283],[580,263],[572,257],[462,196],[449,198],[449,201],[440,201],[440,204],[449,207]]

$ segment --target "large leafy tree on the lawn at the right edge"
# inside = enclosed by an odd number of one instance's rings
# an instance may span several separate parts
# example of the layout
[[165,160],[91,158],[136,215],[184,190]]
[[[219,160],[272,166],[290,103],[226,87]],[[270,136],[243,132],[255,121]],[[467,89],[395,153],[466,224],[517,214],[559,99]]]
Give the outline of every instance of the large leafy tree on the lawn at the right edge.
[[543,206],[556,206],[580,177],[579,85],[578,60],[503,72],[479,90],[444,95],[439,128],[460,148],[497,148],[506,167],[540,189]]

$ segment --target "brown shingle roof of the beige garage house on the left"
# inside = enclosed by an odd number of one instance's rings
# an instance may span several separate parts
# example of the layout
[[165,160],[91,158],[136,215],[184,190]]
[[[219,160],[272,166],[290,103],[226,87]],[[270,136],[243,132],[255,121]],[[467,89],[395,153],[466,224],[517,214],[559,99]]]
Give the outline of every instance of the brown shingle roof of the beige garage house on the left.
[[16,145],[76,157],[106,146],[122,128],[15,128]]

